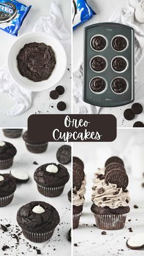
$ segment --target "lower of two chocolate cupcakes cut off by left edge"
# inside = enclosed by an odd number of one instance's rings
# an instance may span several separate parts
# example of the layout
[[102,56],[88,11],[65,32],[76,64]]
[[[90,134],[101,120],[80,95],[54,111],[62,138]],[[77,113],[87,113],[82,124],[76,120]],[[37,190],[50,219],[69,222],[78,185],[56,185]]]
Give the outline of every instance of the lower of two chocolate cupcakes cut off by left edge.
[[15,180],[9,174],[0,174],[0,207],[12,202],[15,190]]

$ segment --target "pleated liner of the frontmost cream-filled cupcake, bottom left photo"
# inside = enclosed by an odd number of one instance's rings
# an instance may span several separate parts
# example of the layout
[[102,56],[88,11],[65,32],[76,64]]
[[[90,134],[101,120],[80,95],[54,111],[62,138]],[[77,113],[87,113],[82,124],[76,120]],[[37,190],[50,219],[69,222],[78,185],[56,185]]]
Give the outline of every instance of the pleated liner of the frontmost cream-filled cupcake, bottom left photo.
[[22,229],[22,232],[23,232],[23,235],[25,236],[25,238],[27,238],[31,242],[43,243],[45,241],[48,241],[51,238],[51,236],[54,233],[54,230],[51,230],[51,231],[45,232],[45,233],[32,233],[32,232]]

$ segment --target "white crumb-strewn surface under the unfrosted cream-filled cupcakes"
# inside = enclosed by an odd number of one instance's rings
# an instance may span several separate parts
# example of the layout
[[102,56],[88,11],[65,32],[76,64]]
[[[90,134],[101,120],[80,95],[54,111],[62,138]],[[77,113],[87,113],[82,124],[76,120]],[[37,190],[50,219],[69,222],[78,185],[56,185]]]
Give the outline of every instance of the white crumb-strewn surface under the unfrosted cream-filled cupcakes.
[[[2,230],[0,229],[0,233],[2,236],[2,239],[0,240],[0,255],[4,255],[4,253],[8,254],[9,256],[22,255],[21,252],[24,252],[24,255],[27,255],[27,256],[37,255],[37,252],[33,249],[30,250],[31,252],[27,251],[26,242],[29,242],[29,244],[31,244],[32,247],[37,246],[38,249],[41,250],[41,255],[47,255],[48,253],[49,255],[63,255],[63,256],[70,255],[71,243],[67,240],[67,233],[71,227],[71,210],[70,210],[71,205],[70,205],[70,202],[68,201],[67,193],[71,188],[71,181],[69,180],[68,183],[65,185],[62,195],[55,198],[49,198],[41,195],[38,192],[37,185],[33,178],[34,171],[41,164],[52,163],[52,162],[57,164],[57,159],[56,159],[57,148],[59,148],[60,145],[63,145],[63,144],[58,142],[49,143],[48,149],[46,150],[45,153],[34,154],[29,152],[26,149],[26,146],[22,137],[18,139],[9,139],[7,137],[4,137],[1,130],[0,130],[0,137],[1,137],[1,140],[3,141],[11,142],[13,145],[15,145],[16,149],[18,150],[14,158],[13,166],[10,169],[21,170],[22,172],[26,171],[30,177],[30,180],[27,183],[23,183],[17,186],[12,203],[0,209],[1,224],[3,225],[9,224],[11,221],[12,225],[15,225],[15,224],[17,225],[16,213],[18,209],[22,205],[25,205],[26,203],[29,203],[31,201],[36,201],[36,200],[50,203],[53,207],[57,209],[60,215],[60,224],[56,227],[56,230],[51,240],[45,243],[38,243],[38,244],[31,243],[29,240],[25,240],[24,236],[21,235],[20,245],[18,246],[18,249],[15,249],[16,240],[13,240],[10,237],[10,234],[8,231],[3,234]],[[36,161],[38,165],[33,164],[34,161]],[[65,167],[68,168],[68,172],[70,173],[70,169],[71,169],[70,164],[65,165]],[[0,174],[9,173],[10,169],[0,170]],[[60,236],[58,236],[58,234]],[[25,240],[25,242],[23,242],[23,239]],[[2,252],[1,248],[4,244],[7,244],[9,246],[14,245],[14,247],[12,249],[7,249],[7,251],[5,252]],[[56,248],[56,251],[54,251],[54,248]],[[18,252],[20,254],[18,254]]]

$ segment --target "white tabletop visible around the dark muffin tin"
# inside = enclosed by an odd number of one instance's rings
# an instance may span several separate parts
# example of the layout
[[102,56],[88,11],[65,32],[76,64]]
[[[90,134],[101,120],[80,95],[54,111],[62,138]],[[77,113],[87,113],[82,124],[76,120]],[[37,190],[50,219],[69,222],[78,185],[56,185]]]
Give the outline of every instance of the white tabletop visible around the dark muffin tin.
[[[73,67],[77,67],[77,63],[80,59],[82,59],[83,55],[83,30],[85,26],[94,23],[107,22],[112,15],[112,13],[118,9],[126,7],[126,1],[115,1],[115,0],[101,0],[94,1],[88,0],[88,3],[93,7],[93,10],[96,11],[97,15],[94,15],[93,18],[86,23],[84,23],[81,27],[77,28],[73,32]],[[144,25],[140,24],[140,27],[143,29]],[[143,77],[143,65],[144,59],[137,65],[137,84],[139,84],[139,90],[135,88],[135,102],[143,103],[142,97],[144,95],[144,77]],[[131,108],[132,104],[128,104],[126,107]],[[129,126],[132,127],[133,124],[137,121],[142,121],[144,119],[143,114],[137,115],[134,120],[127,121],[123,118],[123,109],[124,106],[120,106],[117,108],[101,108],[99,114],[114,114],[117,117],[117,125],[120,126]],[[73,101],[73,113],[77,114],[79,109]]]

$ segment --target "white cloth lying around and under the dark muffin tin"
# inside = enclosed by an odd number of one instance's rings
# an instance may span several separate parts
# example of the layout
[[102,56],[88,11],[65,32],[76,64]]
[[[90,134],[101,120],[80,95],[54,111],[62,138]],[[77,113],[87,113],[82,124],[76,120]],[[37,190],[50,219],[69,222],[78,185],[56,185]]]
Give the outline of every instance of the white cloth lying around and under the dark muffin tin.
[[[110,17],[109,22],[121,23],[131,26],[135,30],[135,64],[142,59],[144,54],[144,33],[140,29],[140,24],[135,22],[134,13],[141,0],[127,0],[127,8],[117,9]],[[101,108],[92,106],[82,101],[82,77],[83,77],[83,62],[79,61],[76,70],[73,72],[73,95],[74,100],[81,114],[99,114]],[[136,81],[136,74],[135,74]]]

